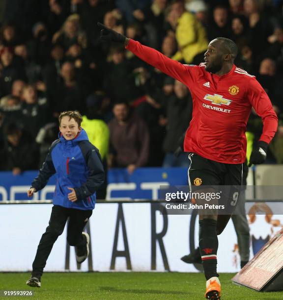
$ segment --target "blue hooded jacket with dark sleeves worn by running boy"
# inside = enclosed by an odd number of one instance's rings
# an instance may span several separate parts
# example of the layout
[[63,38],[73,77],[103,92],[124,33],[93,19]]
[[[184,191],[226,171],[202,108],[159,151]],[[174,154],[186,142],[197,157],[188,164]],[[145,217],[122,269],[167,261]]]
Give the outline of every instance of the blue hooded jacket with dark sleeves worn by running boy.
[[[89,141],[84,129],[78,136],[67,141],[62,135],[53,142],[38,176],[31,186],[36,191],[47,184],[57,173],[53,204],[67,208],[90,210],[94,208],[96,190],[104,182],[104,169],[97,148]],[[68,194],[75,189],[78,200],[68,200]]]

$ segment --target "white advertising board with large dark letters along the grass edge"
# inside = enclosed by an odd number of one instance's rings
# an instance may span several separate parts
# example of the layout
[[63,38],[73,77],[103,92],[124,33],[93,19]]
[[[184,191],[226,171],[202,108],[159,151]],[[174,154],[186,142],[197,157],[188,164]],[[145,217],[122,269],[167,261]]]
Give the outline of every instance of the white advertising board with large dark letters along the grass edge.
[[[48,259],[46,271],[178,271],[198,272],[194,265],[180,260],[197,244],[198,219],[192,215],[161,214],[160,203],[98,203],[87,230],[91,255],[81,268],[74,247],[68,247],[66,230],[58,238]],[[48,225],[52,204],[2,204],[0,272],[31,269],[38,242]],[[277,226],[256,215],[251,224],[255,240],[271,236],[282,227],[283,216],[272,216]],[[194,238],[190,239],[190,231]],[[239,271],[234,227],[228,223],[219,236],[219,272]],[[195,245],[193,245],[195,246]],[[251,258],[254,255],[251,244]]]

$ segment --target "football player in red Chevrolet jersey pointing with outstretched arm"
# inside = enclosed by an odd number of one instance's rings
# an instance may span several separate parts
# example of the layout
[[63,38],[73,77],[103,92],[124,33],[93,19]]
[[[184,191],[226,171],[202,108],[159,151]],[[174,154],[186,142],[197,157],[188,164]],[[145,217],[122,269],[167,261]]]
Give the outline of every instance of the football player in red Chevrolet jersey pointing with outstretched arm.
[[[199,66],[184,65],[157,50],[98,24],[101,39],[123,43],[143,61],[185,84],[193,98],[193,117],[184,140],[189,152],[189,184],[242,184],[246,159],[246,125],[254,107],[262,118],[263,130],[250,163],[266,158],[268,144],[278,125],[278,118],[264,89],[255,76],[237,68],[236,44],[226,38],[211,41]],[[230,201],[235,205],[235,201]],[[206,277],[206,299],[220,299],[221,285],[216,271],[218,238],[230,216],[199,212],[199,250]]]

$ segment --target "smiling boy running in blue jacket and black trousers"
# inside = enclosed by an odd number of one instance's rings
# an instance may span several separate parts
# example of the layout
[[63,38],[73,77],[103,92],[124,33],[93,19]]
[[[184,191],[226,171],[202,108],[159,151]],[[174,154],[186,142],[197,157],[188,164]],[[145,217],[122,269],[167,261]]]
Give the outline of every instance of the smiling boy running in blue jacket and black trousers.
[[48,256],[69,218],[67,240],[76,248],[76,259],[82,263],[88,256],[89,236],[82,232],[92,214],[95,192],[104,182],[104,170],[97,148],[81,127],[78,111],[65,111],[59,116],[59,139],[53,142],[46,160],[28,190],[28,197],[43,189],[48,179],[57,173],[49,226],[39,242],[27,284],[41,286],[41,276]]

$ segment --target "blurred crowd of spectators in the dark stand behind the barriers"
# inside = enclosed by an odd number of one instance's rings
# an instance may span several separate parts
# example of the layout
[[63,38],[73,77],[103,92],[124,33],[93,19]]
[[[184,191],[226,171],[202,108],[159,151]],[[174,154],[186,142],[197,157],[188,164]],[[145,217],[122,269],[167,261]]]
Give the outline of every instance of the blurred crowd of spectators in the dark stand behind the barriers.
[[[280,119],[267,163],[283,163],[283,0],[1,0],[1,171],[38,169],[65,110],[82,113],[108,168],[187,166],[174,152],[191,120],[190,92],[102,43],[97,22],[186,64],[201,63],[210,40],[234,40],[235,64],[256,75]],[[254,111],[247,130],[257,141]]]

